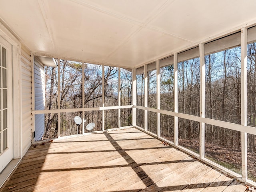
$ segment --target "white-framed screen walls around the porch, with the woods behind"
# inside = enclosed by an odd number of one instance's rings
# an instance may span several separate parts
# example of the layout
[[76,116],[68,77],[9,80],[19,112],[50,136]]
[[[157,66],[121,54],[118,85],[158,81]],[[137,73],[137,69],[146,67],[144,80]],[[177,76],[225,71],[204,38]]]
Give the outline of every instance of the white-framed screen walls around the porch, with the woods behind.
[[55,59],[39,73],[34,56],[35,140],[135,127],[254,185],[255,45],[251,27],[135,69]]

